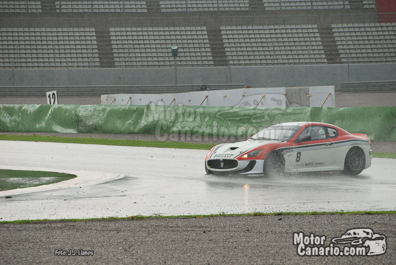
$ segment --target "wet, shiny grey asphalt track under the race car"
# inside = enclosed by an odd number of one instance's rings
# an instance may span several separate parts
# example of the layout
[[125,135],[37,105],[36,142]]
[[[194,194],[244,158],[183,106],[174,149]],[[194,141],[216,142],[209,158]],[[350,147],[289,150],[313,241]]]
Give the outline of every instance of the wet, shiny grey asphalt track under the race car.
[[0,168],[80,176],[69,187],[0,192],[0,221],[395,210],[395,159],[374,158],[369,169],[354,177],[226,177],[205,175],[206,150],[25,141],[0,145]]

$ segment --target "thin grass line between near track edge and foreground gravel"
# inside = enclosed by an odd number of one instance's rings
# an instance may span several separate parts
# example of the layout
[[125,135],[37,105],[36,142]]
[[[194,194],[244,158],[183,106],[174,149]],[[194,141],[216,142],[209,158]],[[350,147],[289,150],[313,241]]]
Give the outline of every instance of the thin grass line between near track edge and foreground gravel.
[[130,217],[108,217],[108,218],[89,218],[89,219],[43,219],[43,220],[18,220],[0,221],[0,223],[29,223],[29,222],[80,222],[80,221],[136,221],[148,219],[170,219],[170,218],[214,218],[214,217],[249,217],[249,216],[317,216],[317,215],[395,215],[396,211],[357,211],[357,212],[280,212],[280,213],[260,213],[251,214],[214,214],[214,215],[180,215],[180,216],[130,216]]

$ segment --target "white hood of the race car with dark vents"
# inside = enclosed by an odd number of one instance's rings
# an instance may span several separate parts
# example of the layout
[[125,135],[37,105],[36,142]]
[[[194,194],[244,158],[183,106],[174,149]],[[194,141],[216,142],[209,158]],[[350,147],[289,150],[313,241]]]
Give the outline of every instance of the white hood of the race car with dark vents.
[[[254,148],[260,147],[268,143],[282,142],[279,140],[251,140],[248,139],[242,142],[223,143],[219,144],[211,154],[212,158],[236,158],[239,155],[246,153]],[[223,155],[223,156],[222,156]]]

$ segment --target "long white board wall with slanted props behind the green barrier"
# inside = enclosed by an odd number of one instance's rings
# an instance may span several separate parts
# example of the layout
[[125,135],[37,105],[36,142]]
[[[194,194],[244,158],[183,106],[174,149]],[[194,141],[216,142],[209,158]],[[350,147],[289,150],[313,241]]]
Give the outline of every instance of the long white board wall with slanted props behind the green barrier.
[[[301,102],[297,102],[294,105],[288,104],[286,89],[288,89],[289,92],[293,92],[289,95],[289,97],[292,97],[289,98],[289,101],[293,99]],[[334,108],[336,105],[334,86],[305,88],[242,88],[167,94],[101,95],[101,104],[103,105],[125,105],[126,102],[128,102],[128,105],[171,104],[251,108],[286,108],[296,106],[321,107],[322,105],[323,107]]]

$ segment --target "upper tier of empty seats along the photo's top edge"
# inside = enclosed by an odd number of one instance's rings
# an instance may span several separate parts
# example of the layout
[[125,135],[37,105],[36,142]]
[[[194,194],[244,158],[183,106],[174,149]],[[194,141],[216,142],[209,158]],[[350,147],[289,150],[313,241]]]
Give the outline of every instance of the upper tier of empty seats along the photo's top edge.
[[[254,7],[252,7],[254,5]],[[81,13],[81,12],[205,12],[205,11],[251,11],[263,10],[314,10],[314,9],[348,9],[377,6],[376,0],[278,0],[251,3],[249,0],[26,0],[0,1],[0,12],[45,12],[45,13]]]

